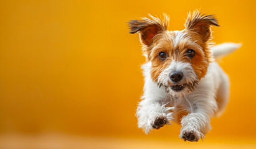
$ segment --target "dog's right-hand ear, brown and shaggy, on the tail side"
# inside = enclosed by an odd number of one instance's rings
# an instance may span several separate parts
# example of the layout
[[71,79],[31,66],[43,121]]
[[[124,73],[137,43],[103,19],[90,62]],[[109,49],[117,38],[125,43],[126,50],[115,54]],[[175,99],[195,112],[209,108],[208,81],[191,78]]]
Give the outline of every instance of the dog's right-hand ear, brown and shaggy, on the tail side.
[[207,42],[211,38],[211,26],[219,26],[216,17],[214,15],[201,14],[199,11],[194,11],[192,16],[191,13],[187,15],[185,27],[187,30],[192,30],[201,35],[202,41]]

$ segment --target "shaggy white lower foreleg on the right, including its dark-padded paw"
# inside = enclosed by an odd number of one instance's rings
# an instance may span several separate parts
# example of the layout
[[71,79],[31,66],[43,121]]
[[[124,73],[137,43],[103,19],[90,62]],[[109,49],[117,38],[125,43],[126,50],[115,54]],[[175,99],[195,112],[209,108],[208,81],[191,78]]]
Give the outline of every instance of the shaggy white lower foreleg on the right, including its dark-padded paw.
[[[211,107],[209,107],[211,109]],[[179,137],[190,142],[197,142],[211,130],[209,109],[197,107],[196,110],[187,114],[181,120],[181,133]]]

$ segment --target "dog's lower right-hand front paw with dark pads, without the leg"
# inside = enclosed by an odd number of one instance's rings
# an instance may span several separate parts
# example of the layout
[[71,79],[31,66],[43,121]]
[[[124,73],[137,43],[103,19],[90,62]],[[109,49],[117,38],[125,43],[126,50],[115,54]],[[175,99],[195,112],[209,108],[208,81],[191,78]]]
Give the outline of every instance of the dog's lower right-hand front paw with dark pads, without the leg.
[[200,132],[192,127],[187,127],[186,129],[181,129],[181,134],[179,135],[184,141],[188,140],[190,142],[198,142],[201,138]]

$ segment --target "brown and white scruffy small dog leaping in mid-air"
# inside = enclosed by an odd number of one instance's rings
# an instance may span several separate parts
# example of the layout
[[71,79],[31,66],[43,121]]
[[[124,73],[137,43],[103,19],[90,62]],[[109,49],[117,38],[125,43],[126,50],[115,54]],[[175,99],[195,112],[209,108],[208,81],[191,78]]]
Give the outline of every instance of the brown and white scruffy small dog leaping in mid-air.
[[214,46],[214,15],[188,13],[184,30],[167,30],[169,17],[130,20],[130,34],[139,33],[146,63],[144,93],[136,110],[138,127],[145,133],[170,121],[181,124],[184,141],[203,140],[211,117],[224,112],[229,101],[229,76],[215,58],[228,55],[240,43]]

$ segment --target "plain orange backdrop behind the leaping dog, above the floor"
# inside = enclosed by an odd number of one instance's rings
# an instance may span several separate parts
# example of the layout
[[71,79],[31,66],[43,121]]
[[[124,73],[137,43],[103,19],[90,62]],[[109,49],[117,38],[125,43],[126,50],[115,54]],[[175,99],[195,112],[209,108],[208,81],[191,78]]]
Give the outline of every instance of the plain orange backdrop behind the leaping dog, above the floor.
[[241,42],[220,65],[231,81],[225,113],[206,140],[255,143],[254,1],[1,1],[0,133],[179,140],[179,125],[145,135],[135,111],[143,89],[138,35],[126,22],[148,13],[184,29],[188,11],[216,14],[214,42]]

